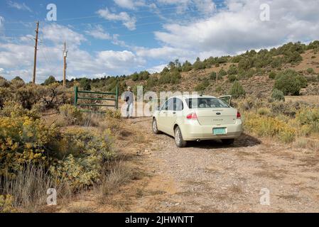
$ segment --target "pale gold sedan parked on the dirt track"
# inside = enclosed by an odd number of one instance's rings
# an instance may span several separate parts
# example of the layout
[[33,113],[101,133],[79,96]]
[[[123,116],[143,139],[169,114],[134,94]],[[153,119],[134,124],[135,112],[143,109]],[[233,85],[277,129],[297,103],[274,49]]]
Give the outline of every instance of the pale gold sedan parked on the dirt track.
[[173,96],[153,114],[153,133],[175,138],[178,148],[187,141],[220,139],[230,145],[242,134],[242,119],[232,108],[232,96]]

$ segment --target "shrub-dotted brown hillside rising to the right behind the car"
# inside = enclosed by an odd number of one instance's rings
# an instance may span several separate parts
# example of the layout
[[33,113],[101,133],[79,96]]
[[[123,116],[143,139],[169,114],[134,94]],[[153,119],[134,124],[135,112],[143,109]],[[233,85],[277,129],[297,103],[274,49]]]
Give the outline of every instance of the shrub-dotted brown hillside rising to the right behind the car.
[[[112,91],[119,84],[120,92],[127,86],[144,86],[144,91],[204,92],[205,94],[228,94],[234,81],[244,87],[247,96],[267,98],[274,89],[276,76],[285,70],[294,70],[307,80],[300,95],[319,95],[319,41],[309,45],[287,43],[271,50],[249,50],[242,55],[210,57],[190,62],[169,62],[160,73],[147,71],[131,75],[104,77],[100,79],[76,79],[67,87],[81,83],[90,84],[92,90]],[[217,80],[216,80],[217,75]],[[79,84],[80,82],[80,84]]]

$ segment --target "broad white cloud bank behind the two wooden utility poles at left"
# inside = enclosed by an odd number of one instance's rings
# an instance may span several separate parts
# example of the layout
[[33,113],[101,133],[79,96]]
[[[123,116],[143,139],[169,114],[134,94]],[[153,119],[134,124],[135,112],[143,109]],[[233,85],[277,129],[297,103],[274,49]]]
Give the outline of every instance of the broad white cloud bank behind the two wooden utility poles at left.
[[[31,37],[32,35],[22,36],[14,43],[10,40],[4,41],[5,43],[0,41],[0,68],[4,69],[1,74],[7,79],[20,76],[27,82],[31,80],[34,53],[34,43],[28,41]],[[51,74],[56,79],[62,79],[64,40],[69,43],[67,45],[69,49],[67,77],[86,76],[92,78],[108,74],[130,74],[146,64],[143,58],[136,56],[134,52],[129,50],[101,50],[97,52],[81,50],[80,44],[85,40],[83,35],[65,26],[53,24],[45,27],[43,34],[40,35],[37,82],[43,82]],[[113,35],[112,41],[121,42],[118,40],[118,35]]]

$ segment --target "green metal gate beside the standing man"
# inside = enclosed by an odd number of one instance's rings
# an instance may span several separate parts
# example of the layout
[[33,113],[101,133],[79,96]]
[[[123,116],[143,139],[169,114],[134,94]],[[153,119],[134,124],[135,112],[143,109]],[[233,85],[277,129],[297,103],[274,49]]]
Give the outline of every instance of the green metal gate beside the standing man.
[[[90,92],[90,91],[80,91],[78,87],[74,88],[75,91],[75,107],[90,107],[90,106],[98,106],[98,107],[114,107],[115,109],[119,109],[119,86],[116,87],[115,93],[111,92]],[[83,97],[79,96],[80,94],[99,94],[102,96],[115,96],[115,99],[112,98],[97,98],[97,97]],[[91,101],[114,101],[114,105],[108,104],[79,104],[79,100],[91,100]],[[81,110],[82,112],[96,112],[92,110]],[[99,111],[99,113],[103,113],[103,111]]]

